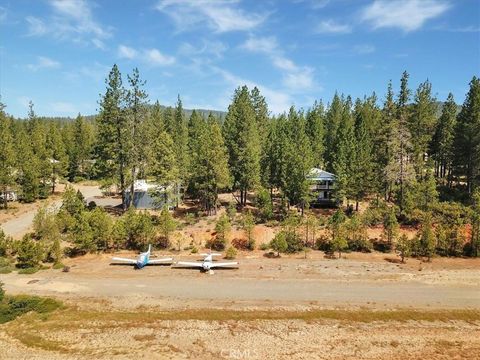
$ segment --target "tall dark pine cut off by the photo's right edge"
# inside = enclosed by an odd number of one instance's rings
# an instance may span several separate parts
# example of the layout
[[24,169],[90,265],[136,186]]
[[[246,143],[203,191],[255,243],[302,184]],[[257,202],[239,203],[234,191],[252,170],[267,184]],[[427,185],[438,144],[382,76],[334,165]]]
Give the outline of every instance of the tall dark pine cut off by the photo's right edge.
[[473,77],[455,126],[454,167],[465,176],[468,194],[480,184],[480,79]]

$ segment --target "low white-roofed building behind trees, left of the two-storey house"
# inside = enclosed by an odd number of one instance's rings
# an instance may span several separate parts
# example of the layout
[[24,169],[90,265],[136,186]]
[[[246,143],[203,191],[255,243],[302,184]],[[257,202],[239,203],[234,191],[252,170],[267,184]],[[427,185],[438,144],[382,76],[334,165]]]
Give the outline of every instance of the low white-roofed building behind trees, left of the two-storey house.
[[[168,207],[174,205],[173,186],[164,187],[146,180],[136,180],[134,185],[133,206],[136,209],[161,209],[168,202]],[[130,188],[125,190],[127,203],[130,201]]]

